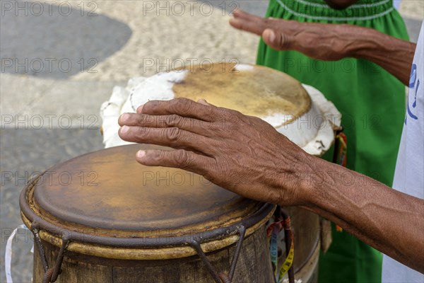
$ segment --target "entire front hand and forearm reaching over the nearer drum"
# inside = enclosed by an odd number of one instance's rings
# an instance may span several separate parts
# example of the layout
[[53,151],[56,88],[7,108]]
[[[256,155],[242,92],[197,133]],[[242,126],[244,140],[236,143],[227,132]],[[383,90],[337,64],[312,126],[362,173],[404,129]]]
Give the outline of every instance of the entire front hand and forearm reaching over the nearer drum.
[[[182,168],[245,197],[300,206],[424,272],[424,201],[311,156],[257,117],[178,98],[149,101],[119,119],[145,166]],[[206,118],[207,121],[204,119]]]

